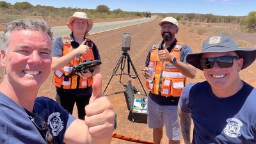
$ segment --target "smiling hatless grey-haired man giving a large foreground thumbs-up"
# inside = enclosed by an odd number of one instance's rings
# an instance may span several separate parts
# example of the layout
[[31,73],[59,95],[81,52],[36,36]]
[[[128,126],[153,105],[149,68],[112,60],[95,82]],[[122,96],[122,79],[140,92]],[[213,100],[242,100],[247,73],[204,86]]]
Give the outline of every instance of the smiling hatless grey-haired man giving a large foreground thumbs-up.
[[100,74],[84,120],[52,99],[36,98],[51,72],[52,31],[44,21],[13,20],[1,41],[0,143],[111,143],[114,113]]

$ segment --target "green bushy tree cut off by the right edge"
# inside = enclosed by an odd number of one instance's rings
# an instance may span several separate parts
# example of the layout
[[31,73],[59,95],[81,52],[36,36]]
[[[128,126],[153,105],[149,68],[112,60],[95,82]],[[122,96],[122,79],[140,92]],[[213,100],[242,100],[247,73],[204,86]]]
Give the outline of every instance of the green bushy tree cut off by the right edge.
[[256,11],[250,12],[246,19],[244,20],[246,29],[249,32],[256,32]]

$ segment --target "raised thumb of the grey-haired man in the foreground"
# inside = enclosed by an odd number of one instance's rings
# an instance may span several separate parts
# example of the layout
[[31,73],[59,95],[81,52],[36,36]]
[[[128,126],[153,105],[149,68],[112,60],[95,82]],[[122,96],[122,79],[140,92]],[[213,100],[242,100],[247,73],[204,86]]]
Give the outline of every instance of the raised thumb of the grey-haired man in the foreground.
[[102,93],[102,75],[96,74],[93,76],[93,83],[92,83],[92,97],[90,98],[90,102],[94,102],[99,97],[103,97]]

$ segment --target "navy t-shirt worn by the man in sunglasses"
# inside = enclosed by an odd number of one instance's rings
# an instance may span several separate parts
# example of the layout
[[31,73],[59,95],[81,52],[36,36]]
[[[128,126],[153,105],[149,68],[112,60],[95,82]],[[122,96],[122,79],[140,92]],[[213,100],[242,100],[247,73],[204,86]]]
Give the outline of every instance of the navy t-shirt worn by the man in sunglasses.
[[249,84],[223,99],[212,93],[207,81],[188,84],[179,104],[191,113],[193,143],[256,143],[256,89]]

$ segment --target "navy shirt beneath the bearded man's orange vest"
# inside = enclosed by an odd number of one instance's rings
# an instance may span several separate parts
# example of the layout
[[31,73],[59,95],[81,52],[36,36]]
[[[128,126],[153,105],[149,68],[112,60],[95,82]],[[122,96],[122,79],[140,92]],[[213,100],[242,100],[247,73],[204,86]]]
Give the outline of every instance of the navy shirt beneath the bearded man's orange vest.
[[[172,51],[173,47],[175,46],[177,40],[175,39],[174,42],[167,47],[167,50],[169,52]],[[161,42],[161,45],[159,47],[159,50],[163,50],[163,44],[164,41]],[[150,51],[148,52],[148,56],[145,62],[145,67],[148,67],[149,61],[150,61],[150,54],[152,52],[152,48],[150,47]],[[182,45],[182,48],[180,49],[180,61],[182,61],[183,63],[186,63],[186,57],[188,56],[188,54],[191,54],[192,50],[188,45]],[[157,104],[161,105],[161,106],[177,106],[178,102],[179,102],[179,98],[180,97],[163,97],[161,95],[156,95],[153,94],[151,92],[149,92],[148,96]]]

